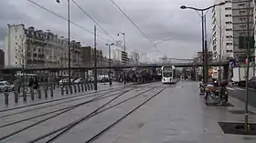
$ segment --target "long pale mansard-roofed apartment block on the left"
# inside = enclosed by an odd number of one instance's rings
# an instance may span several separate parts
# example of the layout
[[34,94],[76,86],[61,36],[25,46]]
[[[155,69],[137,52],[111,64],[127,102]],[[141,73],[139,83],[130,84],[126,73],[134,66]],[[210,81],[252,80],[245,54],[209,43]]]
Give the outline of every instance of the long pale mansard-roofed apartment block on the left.
[[[80,42],[70,41],[71,66],[82,63],[80,47]],[[5,67],[69,65],[68,39],[33,26],[8,25],[4,50]]]

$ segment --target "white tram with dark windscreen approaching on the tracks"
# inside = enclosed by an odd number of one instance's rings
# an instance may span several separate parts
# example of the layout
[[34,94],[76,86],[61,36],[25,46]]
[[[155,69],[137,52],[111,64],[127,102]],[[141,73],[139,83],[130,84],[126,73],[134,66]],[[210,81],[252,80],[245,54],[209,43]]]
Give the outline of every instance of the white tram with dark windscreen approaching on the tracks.
[[176,66],[162,66],[162,83],[176,84]]

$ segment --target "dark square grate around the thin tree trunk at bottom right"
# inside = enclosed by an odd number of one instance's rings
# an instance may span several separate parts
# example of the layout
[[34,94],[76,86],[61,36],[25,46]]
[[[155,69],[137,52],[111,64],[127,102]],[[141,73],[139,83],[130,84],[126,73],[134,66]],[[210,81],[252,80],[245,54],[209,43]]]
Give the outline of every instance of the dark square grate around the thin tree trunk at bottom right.
[[225,134],[256,136],[255,123],[249,124],[248,131],[244,128],[244,123],[219,122],[219,126]]

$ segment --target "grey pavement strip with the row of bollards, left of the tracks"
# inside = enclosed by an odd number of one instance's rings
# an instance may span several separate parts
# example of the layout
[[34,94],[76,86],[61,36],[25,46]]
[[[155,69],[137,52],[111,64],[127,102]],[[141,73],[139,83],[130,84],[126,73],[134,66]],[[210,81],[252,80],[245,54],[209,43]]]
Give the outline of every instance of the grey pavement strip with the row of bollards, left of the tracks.
[[[98,91],[104,90],[104,89],[109,89],[109,88],[114,88],[114,87],[123,87],[123,83],[118,83],[118,82],[113,82],[112,83],[112,87],[109,86],[109,83],[98,83]],[[41,89],[41,99],[38,99],[38,95],[35,94],[35,100],[32,101],[30,98],[30,94],[27,95],[27,103],[23,102],[23,97],[18,97],[18,103],[15,103],[15,97],[14,97],[14,93],[10,92],[9,93],[9,105],[5,106],[5,95],[4,93],[0,93],[0,110],[3,109],[7,109],[7,108],[12,108],[12,107],[20,107],[20,106],[26,106],[26,105],[30,105],[30,104],[36,104],[36,103],[40,103],[40,102],[45,102],[45,101],[49,101],[49,100],[53,100],[53,99],[58,99],[61,97],[72,97],[72,96],[78,96],[78,95],[82,95],[82,94],[88,94],[88,93],[93,93],[95,92],[93,89],[92,90],[87,90],[84,92],[78,92],[74,93],[74,89],[73,89],[73,94],[69,94],[66,95],[65,91],[64,91],[64,96],[61,96],[61,91],[60,88],[56,88],[53,90],[53,94],[54,97],[50,97],[50,93],[48,90],[48,98],[45,98],[45,93],[43,88]]]

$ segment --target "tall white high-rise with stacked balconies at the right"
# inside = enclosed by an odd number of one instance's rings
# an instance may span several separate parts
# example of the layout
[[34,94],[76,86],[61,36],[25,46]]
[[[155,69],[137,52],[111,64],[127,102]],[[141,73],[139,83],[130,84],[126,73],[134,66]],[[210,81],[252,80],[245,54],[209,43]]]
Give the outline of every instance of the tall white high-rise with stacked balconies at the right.
[[[215,0],[215,4],[220,2],[223,0]],[[245,39],[248,31],[251,41],[254,38],[252,15],[254,2],[252,0],[226,0],[225,3],[223,6],[212,9],[213,60],[225,61],[235,58],[242,62],[246,59]],[[251,47],[251,50],[253,49]],[[254,56],[251,61],[254,61]]]

